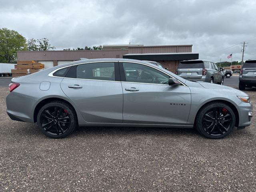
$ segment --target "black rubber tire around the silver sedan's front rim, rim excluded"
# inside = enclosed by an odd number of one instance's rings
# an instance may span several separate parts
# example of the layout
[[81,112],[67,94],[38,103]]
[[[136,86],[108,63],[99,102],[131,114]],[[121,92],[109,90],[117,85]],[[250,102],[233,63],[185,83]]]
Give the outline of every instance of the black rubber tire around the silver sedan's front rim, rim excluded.
[[[208,112],[211,108],[214,108],[214,107],[223,107],[223,108],[226,108],[231,116],[232,116],[232,124],[229,128],[229,130],[221,135],[221,136],[212,136],[212,135],[209,135],[207,134],[205,131],[204,131],[204,128],[202,127],[202,118],[204,116],[204,114],[206,114],[206,112]],[[208,104],[206,106],[204,106],[199,112],[198,112],[198,115],[196,117],[196,129],[198,130],[198,132],[202,135],[204,135],[206,138],[210,138],[210,139],[220,139],[220,138],[224,138],[226,137],[228,134],[230,134],[232,132],[232,130],[234,129],[234,126],[235,126],[235,122],[236,122],[236,116],[233,112],[233,110],[226,104],[224,103],[220,103],[220,102],[214,102],[214,103],[211,103],[211,104]]]

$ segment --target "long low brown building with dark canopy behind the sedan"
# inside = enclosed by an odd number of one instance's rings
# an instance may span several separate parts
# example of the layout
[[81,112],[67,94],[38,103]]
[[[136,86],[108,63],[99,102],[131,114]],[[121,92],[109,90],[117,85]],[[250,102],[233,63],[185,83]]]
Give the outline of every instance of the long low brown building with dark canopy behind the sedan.
[[45,68],[80,60],[80,58],[130,58],[156,61],[174,72],[180,60],[198,59],[198,53],[192,53],[192,45],[103,45],[103,50],[74,51],[19,51],[18,61],[34,60],[44,64]]

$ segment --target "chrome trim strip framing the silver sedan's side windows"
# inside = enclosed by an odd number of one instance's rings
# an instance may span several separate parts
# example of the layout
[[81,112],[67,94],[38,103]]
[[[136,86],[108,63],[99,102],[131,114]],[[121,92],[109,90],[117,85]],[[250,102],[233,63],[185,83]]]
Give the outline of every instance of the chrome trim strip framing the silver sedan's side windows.
[[[48,74],[49,77],[54,77],[54,78],[65,78],[65,79],[77,79],[77,80],[92,80],[92,81],[106,81],[106,82],[121,82],[121,81],[109,81],[109,80],[96,80],[96,79],[80,79],[80,78],[69,78],[69,77],[57,77],[57,76],[53,76],[53,74],[60,70],[60,69],[63,69],[63,68],[66,68],[66,67],[70,67],[70,66],[76,66],[76,65],[82,65],[82,64],[89,64],[89,63],[106,63],[106,62],[122,62],[122,63],[136,63],[136,64],[141,64],[141,65],[146,65],[148,67],[152,67],[166,75],[168,75],[169,77],[171,78],[174,78],[173,76],[171,76],[170,74],[154,67],[154,66],[151,66],[151,65],[148,65],[148,64],[144,64],[144,63],[140,63],[140,62],[133,62],[133,61],[93,61],[93,62],[84,62],[84,63],[77,63],[77,64],[72,64],[72,65],[68,65],[68,66],[64,66],[64,67],[60,67],[56,70],[53,70],[52,72],[50,72]],[[174,78],[176,79],[176,78]],[[176,79],[178,80],[178,79]],[[127,82],[127,81],[122,81],[122,82]],[[182,83],[180,80],[178,80],[178,82],[180,82],[182,85],[178,85],[178,86],[186,86],[186,84]],[[127,83],[137,83],[137,84],[153,84],[153,85],[167,85],[167,84],[155,84],[155,83],[140,83],[140,82],[127,82]],[[169,86],[169,85],[167,85]]]

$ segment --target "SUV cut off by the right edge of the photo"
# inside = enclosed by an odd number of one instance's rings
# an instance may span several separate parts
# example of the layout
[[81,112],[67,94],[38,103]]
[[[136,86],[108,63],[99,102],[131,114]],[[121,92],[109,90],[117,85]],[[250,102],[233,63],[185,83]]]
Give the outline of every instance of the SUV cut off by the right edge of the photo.
[[239,89],[256,87],[256,60],[246,60],[240,69]]

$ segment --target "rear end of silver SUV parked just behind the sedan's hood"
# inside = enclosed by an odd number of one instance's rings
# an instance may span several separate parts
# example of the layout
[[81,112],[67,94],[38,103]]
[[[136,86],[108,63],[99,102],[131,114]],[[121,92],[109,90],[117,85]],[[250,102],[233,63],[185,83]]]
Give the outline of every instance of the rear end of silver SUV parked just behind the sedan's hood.
[[201,79],[203,65],[200,61],[182,61],[178,66],[177,75],[186,79]]

